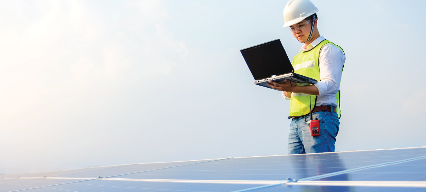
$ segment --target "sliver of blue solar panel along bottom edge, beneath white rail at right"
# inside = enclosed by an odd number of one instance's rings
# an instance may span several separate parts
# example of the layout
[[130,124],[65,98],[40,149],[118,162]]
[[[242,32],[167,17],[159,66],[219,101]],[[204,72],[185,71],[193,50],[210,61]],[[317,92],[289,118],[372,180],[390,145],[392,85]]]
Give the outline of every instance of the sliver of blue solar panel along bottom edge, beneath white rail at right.
[[417,187],[368,187],[368,186],[300,186],[278,185],[249,192],[424,192]]

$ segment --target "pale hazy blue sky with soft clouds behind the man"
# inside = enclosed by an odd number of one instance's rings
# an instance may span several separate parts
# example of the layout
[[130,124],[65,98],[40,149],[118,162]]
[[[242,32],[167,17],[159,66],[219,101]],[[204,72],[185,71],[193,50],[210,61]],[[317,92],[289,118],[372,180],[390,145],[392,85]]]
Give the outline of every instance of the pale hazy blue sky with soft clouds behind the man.
[[[287,154],[289,102],[239,50],[287,1],[0,1],[0,174]],[[425,1],[313,0],[346,63],[336,151],[426,146]]]

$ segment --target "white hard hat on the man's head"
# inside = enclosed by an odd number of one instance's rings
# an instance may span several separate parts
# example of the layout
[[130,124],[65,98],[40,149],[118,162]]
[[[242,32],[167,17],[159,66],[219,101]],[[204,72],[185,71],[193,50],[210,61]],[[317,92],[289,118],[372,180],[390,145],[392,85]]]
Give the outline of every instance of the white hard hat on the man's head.
[[290,0],[284,8],[284,26],[294,25],[318,12],[318,8],[310,0]]

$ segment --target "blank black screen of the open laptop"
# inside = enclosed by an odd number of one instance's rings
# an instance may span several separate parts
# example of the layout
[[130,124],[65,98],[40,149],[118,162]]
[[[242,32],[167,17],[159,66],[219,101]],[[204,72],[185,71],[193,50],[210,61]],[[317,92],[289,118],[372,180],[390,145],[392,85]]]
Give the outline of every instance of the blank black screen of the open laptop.
[[279,39],[242,49],[241,54],[255,80],[293,71]]

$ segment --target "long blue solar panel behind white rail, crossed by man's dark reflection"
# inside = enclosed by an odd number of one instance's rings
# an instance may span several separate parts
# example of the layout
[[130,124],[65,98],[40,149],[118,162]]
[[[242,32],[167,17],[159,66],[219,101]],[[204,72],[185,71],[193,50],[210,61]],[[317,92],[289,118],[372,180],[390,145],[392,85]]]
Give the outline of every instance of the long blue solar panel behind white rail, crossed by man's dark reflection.
[[117,178],[285,180],[307,178],[426,155],[426,148],[234,158],[121,175]]

